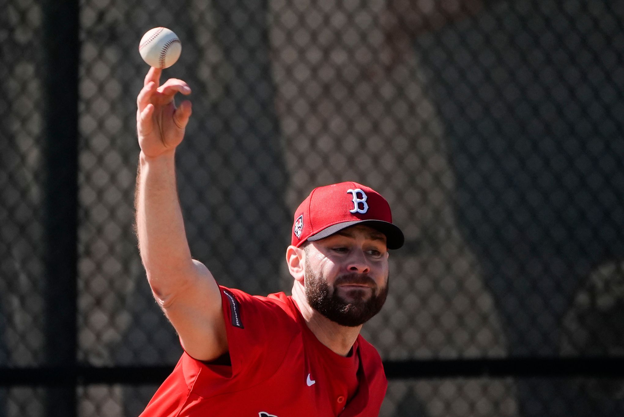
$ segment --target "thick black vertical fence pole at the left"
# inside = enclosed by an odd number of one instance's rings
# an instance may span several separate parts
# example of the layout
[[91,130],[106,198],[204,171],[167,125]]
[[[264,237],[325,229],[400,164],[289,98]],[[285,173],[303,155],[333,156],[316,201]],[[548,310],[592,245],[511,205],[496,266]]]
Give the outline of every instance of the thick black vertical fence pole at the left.
[[[76,369],[78,2],[44,0],[46,365]],[[50,388],[47,415],[76,416],[76,386]]]

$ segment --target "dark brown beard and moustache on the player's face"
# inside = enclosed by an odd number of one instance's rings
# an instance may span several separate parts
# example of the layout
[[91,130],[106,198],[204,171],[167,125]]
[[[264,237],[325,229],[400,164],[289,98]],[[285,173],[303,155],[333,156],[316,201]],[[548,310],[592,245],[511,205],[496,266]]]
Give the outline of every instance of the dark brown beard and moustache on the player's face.
[[[305,260],[305,277],[306,300],[308,300],[310,307],[329,320],[347,327],[357,327],[368,322],[381,311],[381,307],[383,307],[388,296],[388,284],[381,289],[375,285],[373,294],[368,300],[356,298],[347,302],[338,295],[336,285],[347,282],[350,284],[374,284],[374,280],[366,275],[347,274],[339,276],[334,282],[333,290],[331,290],[323,276],[314,274],[308,264],[308,259]],[[353,290],[352,294],[363,293],[364,291],[368,290]]]

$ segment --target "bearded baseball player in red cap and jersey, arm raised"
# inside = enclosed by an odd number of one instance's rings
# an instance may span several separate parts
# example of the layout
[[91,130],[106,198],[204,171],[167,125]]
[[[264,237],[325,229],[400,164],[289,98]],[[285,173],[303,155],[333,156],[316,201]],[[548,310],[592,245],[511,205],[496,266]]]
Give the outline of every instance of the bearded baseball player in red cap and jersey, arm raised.
[[142,416],[378,416],[388,382],[359,331],[386,300],[388,249],[404,241],[388,202],[357,183],[315,188],[286,249],[292,296],[218,285],[191,257],[175,183],[191,104],[173,98],[191,90],[160,74],[150,69],[137,98],[137,233],[184,352]]

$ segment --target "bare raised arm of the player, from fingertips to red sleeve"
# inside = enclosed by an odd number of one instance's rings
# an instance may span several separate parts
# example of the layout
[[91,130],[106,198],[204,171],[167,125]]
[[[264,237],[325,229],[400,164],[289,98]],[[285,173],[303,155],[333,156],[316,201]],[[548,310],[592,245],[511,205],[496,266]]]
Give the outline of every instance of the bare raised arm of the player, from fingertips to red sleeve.
[[137,97],[139,249],[154,297],[182,347],[193,358],[213,360],[228,348],[221,294],[207,267],[191,257],[175,181],[175,148],[184,137],[191,103],[176,108],[173,98],[191,90],[177,79],[159,85],[161,72],[149,70]]

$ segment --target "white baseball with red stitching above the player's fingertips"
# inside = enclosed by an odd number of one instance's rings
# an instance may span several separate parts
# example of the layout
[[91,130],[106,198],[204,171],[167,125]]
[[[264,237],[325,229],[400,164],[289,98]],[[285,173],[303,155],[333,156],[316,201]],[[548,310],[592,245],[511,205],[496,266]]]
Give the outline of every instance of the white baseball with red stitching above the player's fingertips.
[[166,27],[150,29],[139,43],[139,54],[150,67],[168,68],[175,64],[180,52],[182,52],[180,39]]

